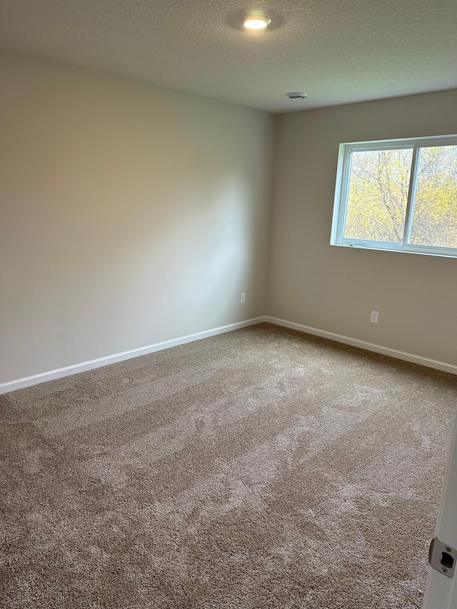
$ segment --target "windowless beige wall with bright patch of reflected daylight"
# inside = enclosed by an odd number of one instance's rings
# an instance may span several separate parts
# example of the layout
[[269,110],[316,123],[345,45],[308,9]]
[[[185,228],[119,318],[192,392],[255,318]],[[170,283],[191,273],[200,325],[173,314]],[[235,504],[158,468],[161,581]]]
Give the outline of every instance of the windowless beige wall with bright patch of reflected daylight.
[[10,54],[0,86],[0,383],[265,313],[272,116]]

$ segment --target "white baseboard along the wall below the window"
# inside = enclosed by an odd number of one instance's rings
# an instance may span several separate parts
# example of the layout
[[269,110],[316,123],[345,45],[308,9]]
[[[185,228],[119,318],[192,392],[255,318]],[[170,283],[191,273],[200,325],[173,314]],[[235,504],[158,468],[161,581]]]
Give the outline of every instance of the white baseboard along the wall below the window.
[[392,358],[419,363],[421,366],[427,366],[428,368],[435,368],[436,370],[442,370],[443,372],[457,374],[457,366],[454,366],[451,363],[416,356],[413,353],[398,351],[397,349],[375,345],[374,343],[367,343],[366,341],[359,341],[358,338],[351,338],[351,336],[343,336],[342,334],[327,332],[326,330],[319,330],[318,328],[311,328],[311,326],[303,326],[301,323],[294,323],[293,321],[286,321],[285,319],[278,319],[269,315],[265,316],[265,321],[268,321],[268,323],[275,323],[276,326],[284,326],[285,328],[291,328],[293,330],[298,330],[299,332],[313,334],[314,336],[330,338],[331,341],[344,343],[345,345],[351,345],[353,347],[359,347],[361,349],[366,349],[366,351],[374,351],[374,353],[381,353],[384,356],[391,356]]

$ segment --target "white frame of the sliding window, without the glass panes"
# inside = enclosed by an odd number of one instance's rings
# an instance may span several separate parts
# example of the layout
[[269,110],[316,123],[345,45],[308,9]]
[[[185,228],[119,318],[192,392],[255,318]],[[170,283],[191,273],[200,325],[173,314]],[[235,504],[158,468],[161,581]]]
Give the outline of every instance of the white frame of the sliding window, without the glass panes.
[[[411,226],[413,223],[413,196],[416,193],[416,179],[419,163],[418,149],[426,146],[457,146],[457,135],[349,142],[346,144],[340,144],[338,152],[338,168],[336,171],[335,202],[333,205],[333,220],[330,239],[331,245],[375,250],[402,251],[406,253],[426,254],[428,256],[447,256],[457,258],[457,248],[424,246],[416,243],[408,243],[408,239],[411,235]],[[413,150],[402,243],[345,237],[344,229],[346,225],[346,211],[348,208],[348,191],[352,153],[369,150],[399,149]]]

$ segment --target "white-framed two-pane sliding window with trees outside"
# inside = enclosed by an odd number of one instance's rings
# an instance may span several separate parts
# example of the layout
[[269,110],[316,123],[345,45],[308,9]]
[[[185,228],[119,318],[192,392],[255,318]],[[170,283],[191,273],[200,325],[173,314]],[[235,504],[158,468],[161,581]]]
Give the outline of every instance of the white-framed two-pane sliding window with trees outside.
[[341,144],[331,244],[457,257],[457,136]]

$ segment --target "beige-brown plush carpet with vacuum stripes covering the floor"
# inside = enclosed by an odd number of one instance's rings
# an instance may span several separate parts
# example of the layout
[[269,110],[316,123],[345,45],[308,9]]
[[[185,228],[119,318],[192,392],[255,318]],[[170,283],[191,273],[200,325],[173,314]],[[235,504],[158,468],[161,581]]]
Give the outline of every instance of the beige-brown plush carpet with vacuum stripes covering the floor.
[[0,605],[419,608],[456,396],[268,324],[0,396]]

